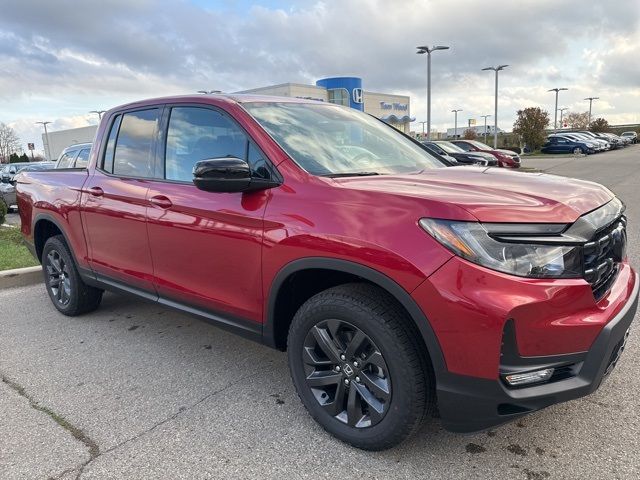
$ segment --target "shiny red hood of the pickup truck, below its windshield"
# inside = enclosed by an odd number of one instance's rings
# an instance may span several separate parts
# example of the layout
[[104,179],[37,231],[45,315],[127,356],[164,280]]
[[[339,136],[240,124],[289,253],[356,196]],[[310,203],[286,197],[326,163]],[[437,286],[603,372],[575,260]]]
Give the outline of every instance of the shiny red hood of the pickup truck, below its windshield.
[[[614,198],[597,183],[502,168],[436,168],[416,175],[335,181],[344,188],[424,199],[429,212],[437,212],[438,203],[446,204],[442,216],[431,215],[461,220],[471,214],[481,222],[573,223]],[[463,210],[459,218],[451,217],[455,207]]]

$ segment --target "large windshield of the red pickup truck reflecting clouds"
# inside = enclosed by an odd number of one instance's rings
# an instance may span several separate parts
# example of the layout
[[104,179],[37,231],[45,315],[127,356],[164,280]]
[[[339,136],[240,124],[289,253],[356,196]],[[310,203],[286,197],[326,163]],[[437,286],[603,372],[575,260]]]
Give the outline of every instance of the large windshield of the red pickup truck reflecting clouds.
[[445,166],[393,127],[351,108],[262,102],[243,106],[313,175],[417,173]]

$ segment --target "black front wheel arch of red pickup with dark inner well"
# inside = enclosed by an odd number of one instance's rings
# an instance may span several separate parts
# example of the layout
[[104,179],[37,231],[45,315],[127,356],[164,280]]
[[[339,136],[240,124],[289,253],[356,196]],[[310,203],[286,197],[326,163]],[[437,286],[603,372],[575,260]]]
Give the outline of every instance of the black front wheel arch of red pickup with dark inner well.
[[290,315],[285,315],[284,317],[278,316],[278,310],[282,305],[283,297],[287,295],[286,285],[288,280],[294,278],[297,274],[314,270],[322,270],[338,276],[344,276],[345,279],[348,278],[351,279],[351,281],[353,281],[355,277],[360,279],[360,281],[371,283],[389,293],[406,311],[408,317],[420,332],[436,375],[446,370],[444,356],[436,334],[425,314],[411,295],[384,273],[348,260],[307,257],[294,260],[280,269],[271,282],[269,289],[267,315],[262,331],[263,342],[265,344],[279,350],[286,349],[286,332],[291,324],[293,314],[295,314],[295,312],[292,312],[292,314],[289,312]]

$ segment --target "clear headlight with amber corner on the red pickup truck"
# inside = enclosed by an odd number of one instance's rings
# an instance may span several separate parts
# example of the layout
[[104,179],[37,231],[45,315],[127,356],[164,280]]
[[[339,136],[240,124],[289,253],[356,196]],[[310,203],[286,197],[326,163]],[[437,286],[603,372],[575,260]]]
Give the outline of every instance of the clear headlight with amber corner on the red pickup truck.
[[456,255],[499,272],[530,278],[582,277],[579,246],[500,242],[477,222],[423,218],[420,226]]

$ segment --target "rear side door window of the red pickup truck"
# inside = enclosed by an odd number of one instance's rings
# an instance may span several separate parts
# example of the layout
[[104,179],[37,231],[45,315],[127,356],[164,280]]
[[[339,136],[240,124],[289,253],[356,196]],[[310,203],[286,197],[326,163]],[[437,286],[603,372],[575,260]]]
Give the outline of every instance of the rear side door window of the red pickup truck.
[[[159,117],[158,108],[122,115],[113,154],[114,175],[144,178],[153,176],[153,151]],[[106,160],[105,158],[105,165]]]

